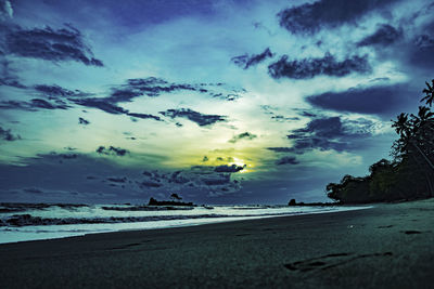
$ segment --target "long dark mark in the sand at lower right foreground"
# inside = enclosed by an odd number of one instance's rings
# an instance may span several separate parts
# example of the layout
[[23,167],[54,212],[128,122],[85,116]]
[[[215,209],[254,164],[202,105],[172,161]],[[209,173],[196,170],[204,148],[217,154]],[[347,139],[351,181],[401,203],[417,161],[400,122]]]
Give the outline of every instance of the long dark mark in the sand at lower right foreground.
[[335,254],[327,254],[319,258],[297,261],[294,263],[289,263],[285,264],[284,267],[293,272],[329,270],[363,258],[391,257],[392,254],[393,254],[392,252],[371,253],[371,254],[335,253]]

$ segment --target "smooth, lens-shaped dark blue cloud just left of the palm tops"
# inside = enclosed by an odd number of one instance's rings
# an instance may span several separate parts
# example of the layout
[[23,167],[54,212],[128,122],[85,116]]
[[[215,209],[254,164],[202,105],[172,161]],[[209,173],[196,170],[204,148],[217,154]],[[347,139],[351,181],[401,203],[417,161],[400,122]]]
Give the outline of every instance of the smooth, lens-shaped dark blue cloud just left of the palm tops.
[[416,103],[419,90],[410,83],[353,88],[343,92],[326,92],[306,100],[317,107],[337,111],[378,114],[391,117],[410,103]]

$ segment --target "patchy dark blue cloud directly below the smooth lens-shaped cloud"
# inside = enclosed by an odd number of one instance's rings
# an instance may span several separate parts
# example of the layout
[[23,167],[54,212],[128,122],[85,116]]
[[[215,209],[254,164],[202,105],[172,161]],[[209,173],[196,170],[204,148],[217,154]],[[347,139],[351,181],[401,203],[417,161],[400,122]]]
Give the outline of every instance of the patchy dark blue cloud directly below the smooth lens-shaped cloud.
[[269,148],[276,153],[293,152],[303,154],[310,149],[337,152],[362,147],[361,143],[372,135],[374,123],[368,119],[343,122],[341,117],[323,117],[311,120],[303,129],[288,135],[294,141],[291,148]]

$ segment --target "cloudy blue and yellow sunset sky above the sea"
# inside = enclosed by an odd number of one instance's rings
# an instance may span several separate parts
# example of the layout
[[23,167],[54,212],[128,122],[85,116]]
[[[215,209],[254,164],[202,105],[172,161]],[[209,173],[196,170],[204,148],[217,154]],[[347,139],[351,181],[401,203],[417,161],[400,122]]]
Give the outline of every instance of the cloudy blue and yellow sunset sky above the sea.
[[390,158],[426,0],[0,0],[0,201],[327,201]]

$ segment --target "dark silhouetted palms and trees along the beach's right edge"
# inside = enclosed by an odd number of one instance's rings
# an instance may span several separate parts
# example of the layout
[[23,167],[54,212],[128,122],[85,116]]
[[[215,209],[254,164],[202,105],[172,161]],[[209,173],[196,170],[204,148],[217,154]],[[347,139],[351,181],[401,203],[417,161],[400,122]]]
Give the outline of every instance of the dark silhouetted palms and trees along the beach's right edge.
[[392,161],[381,159],[362,178],[345,175],[326,187],[329,198],[342,203],[408,200],[434,196],[434,79],[422,91],[417,115],[401,113],[392,127],[398,139],[392,145]]

